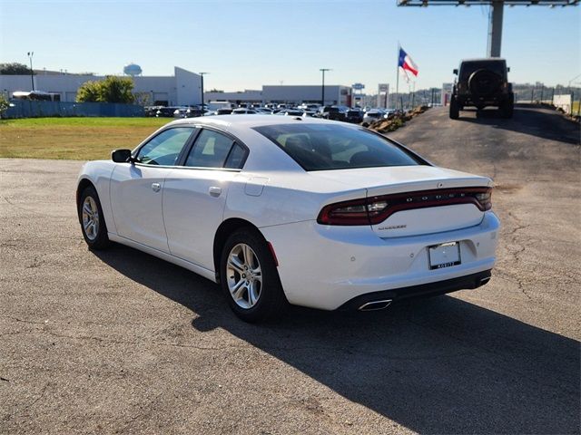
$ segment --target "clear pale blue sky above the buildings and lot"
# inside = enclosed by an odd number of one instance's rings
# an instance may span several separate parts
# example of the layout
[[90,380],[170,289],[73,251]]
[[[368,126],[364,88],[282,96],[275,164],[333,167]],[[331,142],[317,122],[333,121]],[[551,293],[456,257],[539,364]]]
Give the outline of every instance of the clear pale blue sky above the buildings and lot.
[[[0,62],[72,73],[210,72],[206,87],[379,82],[395,87],[398,41],[419,66],[416,88],[452,80],[484,56],[486,6],[397,7],[395,0],[0,0]],[[567,84],[581,73],[581,7],[505,7],[502,55],[512,82]],[[581,82],[581,77],[574,82]],[[401,84],[401,81],[400,81]],[[405,85],[404,85],[405,86]],[[401,89],[401,88],[400,88]]]

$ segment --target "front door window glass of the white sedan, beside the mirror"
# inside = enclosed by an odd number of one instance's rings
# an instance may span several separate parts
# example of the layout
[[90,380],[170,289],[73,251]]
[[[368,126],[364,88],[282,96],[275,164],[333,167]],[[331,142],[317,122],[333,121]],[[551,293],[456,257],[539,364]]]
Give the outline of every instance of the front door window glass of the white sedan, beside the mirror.
[[137,152],[137,161],[146,165],[173,166],[193,129],[178,127],[162,131]]

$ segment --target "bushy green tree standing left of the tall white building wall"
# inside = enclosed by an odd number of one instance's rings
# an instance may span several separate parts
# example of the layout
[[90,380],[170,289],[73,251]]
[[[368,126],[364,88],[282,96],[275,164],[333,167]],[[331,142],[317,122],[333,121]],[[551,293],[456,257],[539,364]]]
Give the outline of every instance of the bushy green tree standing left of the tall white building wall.
[[100,82],[84,82],[76,93],[77,102],[132,103],[133,81],[129,78],[107,76]]

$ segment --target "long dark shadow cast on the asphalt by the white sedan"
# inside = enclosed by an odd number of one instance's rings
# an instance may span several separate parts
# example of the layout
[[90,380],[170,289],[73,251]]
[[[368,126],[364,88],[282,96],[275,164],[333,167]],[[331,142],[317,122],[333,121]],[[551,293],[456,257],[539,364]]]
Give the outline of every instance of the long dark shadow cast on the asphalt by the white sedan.
[[578,433],[576,340],[453,296],[376,313],[293,307],[245,324],[218,285],[181,267],[119,245],[95,255],[191,310],[197,331],[223,328],[410,430]]

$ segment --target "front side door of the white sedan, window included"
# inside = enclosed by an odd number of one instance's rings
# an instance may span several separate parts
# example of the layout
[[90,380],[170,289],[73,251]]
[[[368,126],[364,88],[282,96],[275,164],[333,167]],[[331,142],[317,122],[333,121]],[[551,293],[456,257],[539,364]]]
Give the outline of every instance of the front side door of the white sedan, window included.
[[120,163],[113,170],[111,207],[119,236],[169,252],[162,217],[163,182],[195,130],[164,130],[135,152],[134,163]]

